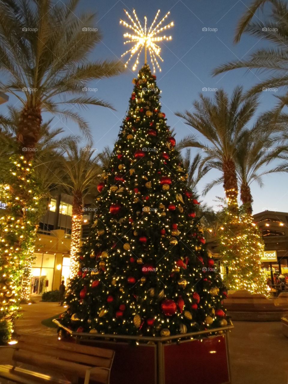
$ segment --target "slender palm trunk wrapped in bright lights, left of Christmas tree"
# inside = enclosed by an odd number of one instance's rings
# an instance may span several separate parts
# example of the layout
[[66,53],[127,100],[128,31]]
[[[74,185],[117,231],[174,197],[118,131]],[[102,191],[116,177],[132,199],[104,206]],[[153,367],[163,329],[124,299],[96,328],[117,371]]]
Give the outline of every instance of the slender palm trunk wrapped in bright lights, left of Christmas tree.
[[78,273],[78,253],[80,250],[81,230],[83,221],[83,199],[82,192],[75,191],[72,205],[72,225],[71,225],[71,250],[70,250],[70,271],[69,279]]

